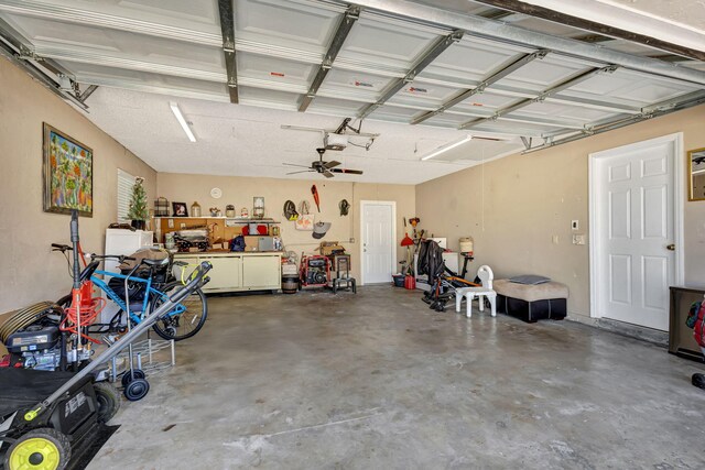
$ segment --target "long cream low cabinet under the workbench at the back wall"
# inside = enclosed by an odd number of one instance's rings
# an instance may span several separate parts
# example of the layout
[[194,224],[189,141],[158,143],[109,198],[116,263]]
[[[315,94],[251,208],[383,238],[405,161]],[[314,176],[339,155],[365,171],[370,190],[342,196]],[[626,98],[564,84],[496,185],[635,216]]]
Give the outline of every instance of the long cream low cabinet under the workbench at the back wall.
[[[186,274],[203,261],[213,264],[208,272],[210,282],[206,293],[241,291],[279,291],[282,283],[281,253],[177,253],[176,261],[184,261]],[[182,267],[174,267],[181,278]]]

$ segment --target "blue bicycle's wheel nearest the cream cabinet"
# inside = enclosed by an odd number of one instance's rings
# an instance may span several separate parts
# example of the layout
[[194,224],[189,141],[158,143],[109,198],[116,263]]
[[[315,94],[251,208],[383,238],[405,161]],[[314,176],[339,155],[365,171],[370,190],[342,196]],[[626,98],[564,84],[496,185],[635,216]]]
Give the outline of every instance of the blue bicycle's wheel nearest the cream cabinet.
[[[184,285],[180,282],[173,282],[166,284],[162,293],[167,297],[182,288]],[[164,303],[164,297],[154,295],[151,304],[150,311],[156,310],[160,305]],[[173,339],[180,341],[182,339],[191,338],[203,328],[208,316],[208,304],[206,302],[206,295],[200,291],[194,291],[188,297],[184,298],[180,303],[181,306],[186,309],[181,314],[167,314],[164,318],[158,320],[152,327],[159,336],[164,339]]]

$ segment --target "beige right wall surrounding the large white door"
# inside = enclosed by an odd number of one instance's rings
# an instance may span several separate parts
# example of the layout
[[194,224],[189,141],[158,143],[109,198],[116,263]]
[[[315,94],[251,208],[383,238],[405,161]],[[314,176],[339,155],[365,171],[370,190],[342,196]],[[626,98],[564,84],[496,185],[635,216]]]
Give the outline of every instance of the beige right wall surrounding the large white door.
[[[512,155],[416,186],[421,226],[447,237],[473,236],[476,261],[497,277],[534,273],[571,288],[571,314],[589,316],[588,245],[571,242],[588,228],[588,154],[683,132],[684,151],[705,146],[705,106],[528,155]],[[679,155],[685,162],[685,154]],[[686,199],[687,184],[683,194]],[[685,281],[705,284],[705,203],[685,201]],[[558,236],[558,243],[552,237]],[[589,243],[589,240],[588,240]]]

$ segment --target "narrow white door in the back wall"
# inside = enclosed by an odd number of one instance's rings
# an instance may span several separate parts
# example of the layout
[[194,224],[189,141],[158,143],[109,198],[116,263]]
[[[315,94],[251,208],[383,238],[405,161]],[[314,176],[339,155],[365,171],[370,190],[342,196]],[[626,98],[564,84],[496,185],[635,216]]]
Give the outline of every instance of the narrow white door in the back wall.
[[362,282],[389,283],[397,262],[394,206],[391,203],[362,203]]

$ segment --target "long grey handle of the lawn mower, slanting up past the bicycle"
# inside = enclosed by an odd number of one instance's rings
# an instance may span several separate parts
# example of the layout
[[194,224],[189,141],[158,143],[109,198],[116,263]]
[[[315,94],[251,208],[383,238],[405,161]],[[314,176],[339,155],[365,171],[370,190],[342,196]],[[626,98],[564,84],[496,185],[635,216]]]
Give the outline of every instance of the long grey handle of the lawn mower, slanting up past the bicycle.
[[140,321],[134,328],[132,328],[132,330],[130,330],[130,332],[128,332],[122,338],[120,338],[119,341],[116,341],[112,346],[108,347],[108,349],[105,352],[102,352],[101,354],[98,354],[98,358],[96,358],[93,362],[90,362],[88,365],[82,369],[80,372],[78,372],[76,375],[70,378],[67,382],[65,382],[54,393],[47,396],[46,400],[42,401],[41,403],[37,403],[34,407],[32,407],[32,409],[26,412],[23,416],[24,420],[25,422],[34,420],[34,418],[36,418],[43,411],[48,408],[52,405],[52,403],[54,403],[64,393],[70,390],[70,387],[74,386],[74,384],[80,382],[83,378],[91,373],[98,367],[102,365],[104,363],[108,362],[110,359],[118,356],[120,351],[122,351],[130,343],[132,343],[132,341],[134,341],[140,335],[142,335],[142,332],[144,332],[148,328],[154,325],[156,320],[159,320],[164,315],[169,314],[174,305],[178,304],[181,300],[183,300],[188,295],[191,295],[194,291],[196,291],[197,288],[208,283],[210,278],[206,277],[206,274],[208,273],[208,271],[210,271],[213,265],[208,261],[202,262],[198,265],[198,267],[196,267],[196,270],[194,271],[193,278],[184,287],[176,291],[166,302],[160,305],[159,308],[156,308],[156,310],[152,311],[151,315],[149,315],[147,318]]

